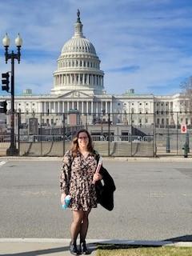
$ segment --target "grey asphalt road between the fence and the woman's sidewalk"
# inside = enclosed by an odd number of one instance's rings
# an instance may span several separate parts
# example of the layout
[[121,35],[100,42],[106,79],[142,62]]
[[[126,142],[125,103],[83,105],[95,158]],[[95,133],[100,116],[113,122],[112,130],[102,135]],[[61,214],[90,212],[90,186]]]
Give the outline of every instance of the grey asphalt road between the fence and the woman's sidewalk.
[[[104,160],[115,207],[90,213],[87,238],[192,241],[192,162]],[[62,210],[61,161],[0,160],[0,238],[70,238]]]

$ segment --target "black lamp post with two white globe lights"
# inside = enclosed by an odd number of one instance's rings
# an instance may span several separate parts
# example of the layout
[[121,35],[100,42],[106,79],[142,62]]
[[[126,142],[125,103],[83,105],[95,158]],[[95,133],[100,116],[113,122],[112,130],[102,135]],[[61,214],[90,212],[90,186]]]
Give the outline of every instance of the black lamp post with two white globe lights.
[[21,52],[20,49],[22,47],[22,38],[18,34],[18,37],[15,38],[15,45],[18,48],[17,54],[14,54],[12,50],[11,53],[8,52],[8,48],[10,46],[10,38],[6,34],[5,38],[2,39],[2,45],[5,47],[5,59],[6,63],[10,59],[11,61],[11,87],[10,87],[10,95],[11,95],[11,115],[10,115],[10,148],[6,150],[6,154],[10,156],[18,155],[18,149],[15,145],[14,139],[14,59],[18,60],[20,63]]

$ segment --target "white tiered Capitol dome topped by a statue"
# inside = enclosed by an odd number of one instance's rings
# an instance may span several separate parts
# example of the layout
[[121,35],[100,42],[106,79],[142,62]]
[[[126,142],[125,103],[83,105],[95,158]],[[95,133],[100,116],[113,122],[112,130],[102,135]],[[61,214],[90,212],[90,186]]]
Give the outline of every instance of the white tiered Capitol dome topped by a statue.
[[104,72],[93,44],[82,33],[78,10],[74,23],[74,36],[62,46],[58,69],[54,71],[54,88],[51,94],[81,90],[87,94],[103,94]]

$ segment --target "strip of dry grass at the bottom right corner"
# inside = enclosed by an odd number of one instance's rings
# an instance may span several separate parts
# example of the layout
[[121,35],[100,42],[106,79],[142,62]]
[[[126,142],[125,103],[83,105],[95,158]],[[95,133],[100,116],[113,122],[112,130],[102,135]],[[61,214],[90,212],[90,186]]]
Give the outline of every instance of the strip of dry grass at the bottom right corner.
[[98,246],[96,256],[191,256],[192,247]]

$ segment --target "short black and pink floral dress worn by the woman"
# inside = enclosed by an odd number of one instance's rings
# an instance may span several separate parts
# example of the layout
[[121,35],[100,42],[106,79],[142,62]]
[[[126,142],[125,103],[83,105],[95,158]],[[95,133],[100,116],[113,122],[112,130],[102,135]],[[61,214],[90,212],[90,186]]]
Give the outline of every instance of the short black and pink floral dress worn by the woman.
[[60,174],[60,189],[62,193],[70,194],[71,210],[88,211],[97,207],[97,195],[93,182],[93,176],[97,167],[94,155],[86,158],[78,152],[73,158],[68,150],[62,160],[62,172]]

